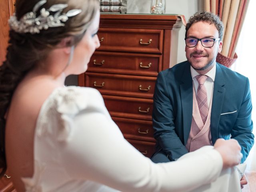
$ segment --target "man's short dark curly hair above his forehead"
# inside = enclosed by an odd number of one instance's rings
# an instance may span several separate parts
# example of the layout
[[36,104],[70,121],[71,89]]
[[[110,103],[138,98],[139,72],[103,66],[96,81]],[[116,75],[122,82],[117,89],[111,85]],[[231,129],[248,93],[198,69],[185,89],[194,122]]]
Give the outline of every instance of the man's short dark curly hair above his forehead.
[[220,40],[222,40],[223,30],[224,30],[224,25],[222,21],[217,15],[213,14],[212,12],[205,12],[205,11],[196,12],[193,16],[189,18],[188,23],[186,24],[185,37],[187,37],[187,33],[191,25],[199,21],[204,21],[204,22],[209,22],[210,24],[214,24],[219,32],[219,38]]

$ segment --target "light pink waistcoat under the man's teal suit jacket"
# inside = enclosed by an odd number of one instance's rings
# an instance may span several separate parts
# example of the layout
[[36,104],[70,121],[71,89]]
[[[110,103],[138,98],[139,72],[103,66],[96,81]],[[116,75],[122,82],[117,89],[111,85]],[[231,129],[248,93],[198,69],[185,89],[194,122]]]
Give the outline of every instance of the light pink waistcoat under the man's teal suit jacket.
[[212,145],[212,136],[210,130],[210,119],[211,119],[212,100],[208,110],[208,116],[205,124],[202,121],[200,111],[196,100],[196,92],[193,88],[193,113],[190,134],[186,148],[189,152],[195,151],[202,146]]

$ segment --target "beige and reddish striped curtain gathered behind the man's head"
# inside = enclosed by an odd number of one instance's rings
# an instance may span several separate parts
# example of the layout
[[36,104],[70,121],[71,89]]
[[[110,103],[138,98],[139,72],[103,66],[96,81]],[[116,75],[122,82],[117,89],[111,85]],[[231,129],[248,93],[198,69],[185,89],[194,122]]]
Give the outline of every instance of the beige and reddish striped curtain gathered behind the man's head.
[[222,52],[217,61],[230,66],[237,58],[236,44],[250,0],[204,0],[204,10],[220,16],[224,24]]

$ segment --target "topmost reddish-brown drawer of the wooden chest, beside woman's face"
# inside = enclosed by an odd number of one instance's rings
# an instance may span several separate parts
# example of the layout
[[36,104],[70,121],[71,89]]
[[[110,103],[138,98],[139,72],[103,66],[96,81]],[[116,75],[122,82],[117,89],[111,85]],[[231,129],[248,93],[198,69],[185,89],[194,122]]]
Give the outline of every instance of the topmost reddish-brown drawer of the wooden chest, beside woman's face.
[[163,30],[100,28],[98,38],[100,51],[162,54]]

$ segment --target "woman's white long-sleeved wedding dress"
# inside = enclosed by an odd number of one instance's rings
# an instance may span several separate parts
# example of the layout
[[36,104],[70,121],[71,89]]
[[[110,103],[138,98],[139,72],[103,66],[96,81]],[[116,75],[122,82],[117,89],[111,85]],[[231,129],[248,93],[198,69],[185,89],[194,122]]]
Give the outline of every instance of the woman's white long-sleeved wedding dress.
[[218,187],[219,180],[223,186],[212,191],[240,191],[234,168],[221,170],[212,146],[154,164],[124,139],[97,90],[69,86],[44,102],[34,136],[34,175],[22,180],[27,192],[199,192]]

